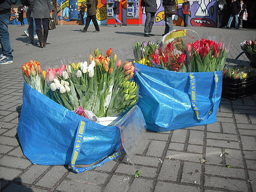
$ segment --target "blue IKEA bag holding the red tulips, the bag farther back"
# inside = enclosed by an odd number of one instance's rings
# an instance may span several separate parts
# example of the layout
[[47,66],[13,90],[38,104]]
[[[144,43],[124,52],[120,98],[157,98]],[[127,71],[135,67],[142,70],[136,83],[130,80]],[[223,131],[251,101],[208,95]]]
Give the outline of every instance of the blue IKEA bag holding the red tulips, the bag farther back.
[[135,64],[138,105],[147,129],[167,131],[217,121],[222,71],[183,73]]

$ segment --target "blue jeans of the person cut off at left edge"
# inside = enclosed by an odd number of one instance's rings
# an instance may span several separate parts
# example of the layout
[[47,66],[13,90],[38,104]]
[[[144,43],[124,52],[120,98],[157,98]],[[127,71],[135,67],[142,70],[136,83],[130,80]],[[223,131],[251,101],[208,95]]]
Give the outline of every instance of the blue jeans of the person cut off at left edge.
[[2,55],[13,59],[11,39],[8,32],[8,23],[11,17],[11,13],[0,14],[0,43],[2,47]]

